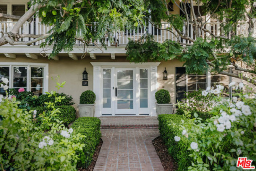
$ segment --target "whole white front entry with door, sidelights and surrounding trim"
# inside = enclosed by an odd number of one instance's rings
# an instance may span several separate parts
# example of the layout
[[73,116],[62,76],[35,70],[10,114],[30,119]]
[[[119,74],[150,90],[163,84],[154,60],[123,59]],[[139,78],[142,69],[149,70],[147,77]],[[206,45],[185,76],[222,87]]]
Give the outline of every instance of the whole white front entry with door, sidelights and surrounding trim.
[[91,62],[95,117],[156,116],[159,62]]

